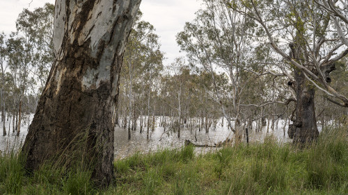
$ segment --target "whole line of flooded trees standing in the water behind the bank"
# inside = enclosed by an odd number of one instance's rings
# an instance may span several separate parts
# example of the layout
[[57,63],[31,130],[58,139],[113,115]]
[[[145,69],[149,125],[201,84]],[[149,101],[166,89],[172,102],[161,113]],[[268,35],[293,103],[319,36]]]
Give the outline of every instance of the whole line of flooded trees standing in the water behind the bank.
[[[312,28],[299,26],[308,23],[296,22],[296,15],[297,20],[308,19],[309,16],[299,15],[299,10],[305,7],[282,4],[280,8],[292,14],[270,12],[268,17],[272,16],[274,22],[269,22],[269,26],[264,27],[262,16],[269,10],[262,13],[259,10],[259,15],[256,16],[251,13],[253,9],[253,14],[256,14],[256,10],[265,7],[242,1],[205,0],[203,3],[205,9],[199,10],[196,19],[187,22],[184,31],[177,34],[177,43],[187,53],[187,58],[177,58],[171,65],[163,64],[165,53],[160,50],[155,27],[141,20],[142,13],[139,12],[125,50],[119,103],[114,119],[116,124],[128,129],[129,138],[131,130],[136,129],[147,133],[149,138],[150,130],[155,130],[157,126],[164,127],[164,130],[174,130],[177,137],[180,137],[183,127],[209,132],[209,128],[216,128],[219,119],[226,121],[228,128],[239,136],[245,128],[261,130],[264,121],[268,121],[269,126],[274,128],[278,126],[279,119],[283,119],[286,121],[286,124],[282,124],[284,130],[285,125],[299,126],[301,123],[296,123],[299,120],[296,115],[301,114],[296,114],[299,110],[296,108],[299,106],[296,103],[299,92],[292,85],[296,83],[296,74],[291,72],[292,60],[287,62],[276,56],[274,52],[278,51],[267,41],[267,31],[268,28],[274,28],[285,40],[296,36],[299,39],[303,39],[303,36],[310,37],[310,33],[302,31],[313,31]],[[327,15],[327,10],[323,10],[321,6],[310,9],[316,10],[317,19]],[[54,60],[53,17],[54,5],[49,3],[33,11],[24,9],[16,21],[17,31],[10,35],[0,35],[3,135],[10,130],[19,133],[19,124],[29,123],[29,115],[35,112],[38,105]],[[280,25],[276,23],[277,19],[283,17],[286,18],[284,25],[292,25],[293,31],[277,28]],[[324,39],[326,34],[323,33],[335,27],[329,17],[326,19],[328,20],[322,21],[323,24],[317,22],[317,28],[322,33],[316,31],[316,40],[323,42],[322,50],[320,47],[318,50],[319,53],[322,52],[320,55],[324,55],[335,42],[342,46],[339,39],[334,38],[335,34],[332,34],[332,42]],[[298,29],[296,33],[296,29],[300,27],[303,29]],[[287,35],[286,32],[295,34]],[[275,43],[278,42],[277,40]],[[340,59],[334,59],[335,71],[326,77],[337,92],[347,95],[348,68],[344,54],[336,56]],[[333,56],[330,53],[327,55]],[[296,63],[305,63],[296,59]],[[330,58],[326,61],[329,62]],[[310,71],[315,72],[315,69]],[[328,92],[325,90],[319,90],[313,96],[315,123],[320,121],[322,128],[331,124],[346,124],[347,109],[334,105],[327,96]],[[5,126],[5,120],[10,121],[12,129]],[[160,121],[159,124],[156,121]]]

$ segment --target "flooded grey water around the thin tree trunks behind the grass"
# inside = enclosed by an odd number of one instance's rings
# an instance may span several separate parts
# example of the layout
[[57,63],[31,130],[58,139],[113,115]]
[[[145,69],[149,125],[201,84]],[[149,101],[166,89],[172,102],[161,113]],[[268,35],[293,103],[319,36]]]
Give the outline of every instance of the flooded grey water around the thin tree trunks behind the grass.
[[[31,119],[33,119],[33,115],[31,115]],[[16,133],[12,133],[11,122],[11,133],[6,136],[0,136],[0,150],[9,151],[9,149],[19,149],[24,142],[26,133],[28,133],[27,127],[28,124],[22,126],[19,137],[16,137]],[[283,127],[284,121],[280,120],[278,122],[278,127],[274,128],[273,131],[269,128],[269,133],[267,133],[267,126],[264,126],[262,132],[258,133],[255,133],[255,129],[249,130],[249,142],[263,142],[264,137],[268,135],[273,135],[280,143],[291,142],[291,139],[287,137],[287,126],[285,126],[285,136],[283,133]],[[6,130],[8,131],[8,121],[6,121]],[[168,132],[168,128],[166,128],[166,130],[167,132],[164,133],[164,128],[157,127],[153,132],[150,131],[150,139],[146,139],[146,132],[139,133],[139,129],[137,129],[136,131],[132,131],[132,138],[128,140],[127,129],[116,127],[114,142],[115,158],[125,158],[137,151],[141,153],[151,153],[158,151],[159,149],[178,149],[184,146],[185,139],[189,139],[195,144],[214,145],[223,142],[228,137],[231,138],[233,135],[233,133],[228,130],[227,124],[224,124],[223,127],[221,126],[221,120],[218,122],[215,130],[213,128],[209,129],[209,133],[205,133],[205,130],[198,131],[198,129],[193,129],[191,131],[188,128],[182,128],[180,139],[177,138],[177,133],[171,131]],[[0,133],[2,133],[2,122],[0,124]],[[197,137],[197,142],[195,137]],[[243,136],[242,142],[246,142],[245,136]],[[196,148],[196,153],[204,153],[214,149],[215,148],[210,147],[198,147]]]

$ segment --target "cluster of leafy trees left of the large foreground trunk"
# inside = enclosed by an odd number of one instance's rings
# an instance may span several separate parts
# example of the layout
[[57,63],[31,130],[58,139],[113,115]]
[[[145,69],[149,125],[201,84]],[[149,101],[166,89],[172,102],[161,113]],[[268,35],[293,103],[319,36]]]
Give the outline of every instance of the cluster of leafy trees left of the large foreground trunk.
[[[0,34],[0,107],[18,115],[35,112],[54,60],[54,5],[46,3],[33,11],[24,9],[16,20],[16,32]],[[4,132],[4,135],[6,133]]]

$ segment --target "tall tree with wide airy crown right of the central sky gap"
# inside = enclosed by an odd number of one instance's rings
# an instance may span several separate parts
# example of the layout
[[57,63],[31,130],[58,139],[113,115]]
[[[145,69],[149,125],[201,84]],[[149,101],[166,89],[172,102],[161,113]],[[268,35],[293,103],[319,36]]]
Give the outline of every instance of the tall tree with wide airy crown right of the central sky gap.
[[[253,21],[239,14],[226,5],[224,1],[204,0],[204,10],[196,12],[196,19],[187,22],[184,31],[177,35],[177,43],[187,52],[189,62],[203,65],[212,76],[214,96],[221,105],[223,116],[228,126],[240,139],[242,135],[243,115],[241,113],[241,95],[248,78],[242,78],[250,53]],[[226,110],[223,89],[219,90],[214,73],[224,71],[228,75],[232,88],[230,99],[232,115]],[[245,75],[245,74],[244,74]],[[230,120],[232,117],[234,124]]]

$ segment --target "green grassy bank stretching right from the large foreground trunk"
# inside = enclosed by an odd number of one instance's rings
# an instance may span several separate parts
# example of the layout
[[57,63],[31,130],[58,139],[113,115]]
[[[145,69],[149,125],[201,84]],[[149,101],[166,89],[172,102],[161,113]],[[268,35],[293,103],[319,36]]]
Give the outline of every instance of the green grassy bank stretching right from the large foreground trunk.
[[[347,138],[346,128],[323,133],[316,144],[305,149],[280,145],[273,137],[267,137],[264,144],[241,144],[196,157],[191,156],[190,148],[159,151],[141,159],[135,155],[115,162],[139,160],[138,166],[118,175],[122,185],[115,191],[120,194],[137,194],[136,190],[153,194],[347,193]],[[127,190],[129,187],[132,190]]]

